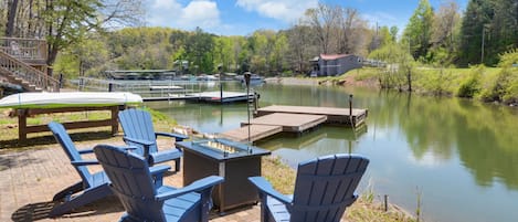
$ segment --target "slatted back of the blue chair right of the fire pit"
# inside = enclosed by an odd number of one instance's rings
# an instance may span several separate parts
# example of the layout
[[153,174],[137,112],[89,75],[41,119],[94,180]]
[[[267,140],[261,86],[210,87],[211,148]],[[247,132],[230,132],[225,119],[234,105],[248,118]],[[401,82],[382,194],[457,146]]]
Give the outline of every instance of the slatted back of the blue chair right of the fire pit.
[[290,221],[340,221],[357,199],[355,190],[369,160],[359,156],[335,155],[298,166]]

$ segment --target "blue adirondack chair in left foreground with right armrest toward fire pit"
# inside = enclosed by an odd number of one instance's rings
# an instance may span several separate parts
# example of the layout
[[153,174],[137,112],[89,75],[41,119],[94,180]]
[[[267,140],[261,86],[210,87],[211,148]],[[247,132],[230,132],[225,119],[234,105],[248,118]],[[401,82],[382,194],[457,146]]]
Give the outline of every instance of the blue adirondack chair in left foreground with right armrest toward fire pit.
[[212,188],[223,182],[222,177],[210,176],[181,189],[156,188],[144,157],[109,145],[97,145],[94,152],[126,210],[120,221],[208,221]]

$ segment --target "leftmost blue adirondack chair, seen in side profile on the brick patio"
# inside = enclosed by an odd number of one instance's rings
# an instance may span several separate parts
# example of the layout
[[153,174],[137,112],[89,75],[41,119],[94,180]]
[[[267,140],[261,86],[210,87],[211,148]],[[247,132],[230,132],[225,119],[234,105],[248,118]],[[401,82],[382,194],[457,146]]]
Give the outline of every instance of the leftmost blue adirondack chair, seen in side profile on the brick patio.
[[[51,121],[49,124],[49,128],[54,135],[56,141],[66,152],[66,156],[68,156],[72,166],[74,166],[75,170],[77,173],[80,173],[82,179],[81,181],[65,188],[54,195],[53,201],[63,200],[64,202],[54,207],[49,214],[51,216],[59,216],[86,203],[114,194],[109,189],[109,180],[104,171],[91,173],[87,169],[88,165],[98,165],[97,160],[84,160],[81,157],[84,154],[93,154],[94,150],[77,150],[63,125],[59,123]],[[168,166],[152,168],[152,172],[156,175],[155,182],[157,187],[162,184],[161,173],[169,169],[170,167]]]

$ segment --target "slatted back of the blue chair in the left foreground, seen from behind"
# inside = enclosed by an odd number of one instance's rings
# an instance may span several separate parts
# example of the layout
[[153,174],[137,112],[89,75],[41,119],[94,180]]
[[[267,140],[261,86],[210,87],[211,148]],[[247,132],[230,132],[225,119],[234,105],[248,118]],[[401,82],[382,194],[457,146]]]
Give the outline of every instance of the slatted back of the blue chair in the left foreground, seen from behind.
[[117,147],[97,145],[94,152],[112,181],[112,188],[135,221],[166,221],[147,161]]

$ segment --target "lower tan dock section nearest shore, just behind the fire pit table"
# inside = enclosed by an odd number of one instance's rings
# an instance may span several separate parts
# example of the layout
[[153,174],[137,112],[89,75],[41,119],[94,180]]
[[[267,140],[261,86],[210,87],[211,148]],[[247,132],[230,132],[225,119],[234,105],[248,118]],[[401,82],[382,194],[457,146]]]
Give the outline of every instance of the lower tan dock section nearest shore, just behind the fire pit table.
[[[269,137],[272,135],[283,131],[281,126],[267,126],[267,125],[251,125],[250,126],[250,141],[257,141],[260,139]],[[232,129],[225,133],[221,133],[220,137],[228,138],[234,141],[247,141],[249,140],[249,127],[244,126],[241,128]]]

